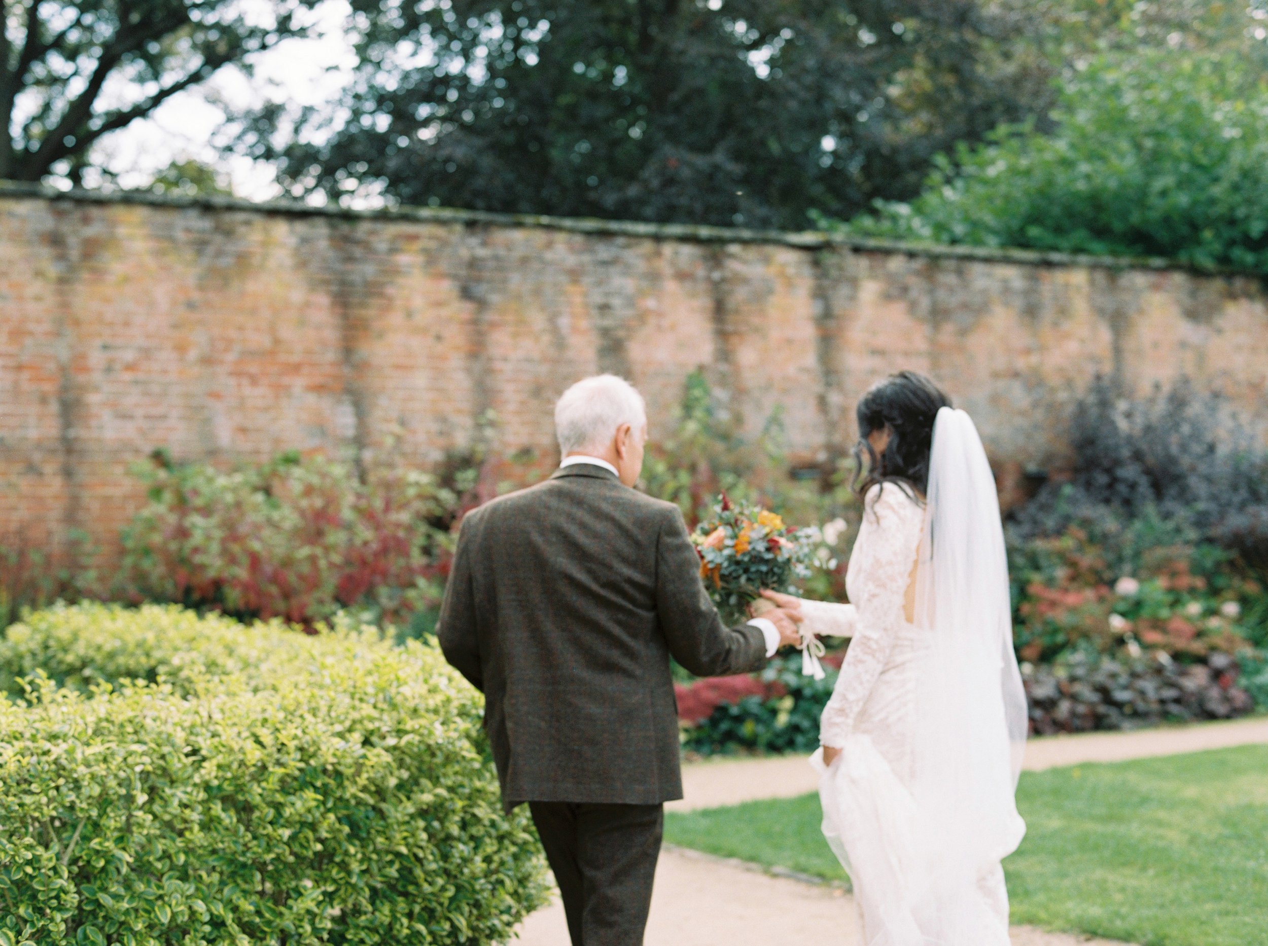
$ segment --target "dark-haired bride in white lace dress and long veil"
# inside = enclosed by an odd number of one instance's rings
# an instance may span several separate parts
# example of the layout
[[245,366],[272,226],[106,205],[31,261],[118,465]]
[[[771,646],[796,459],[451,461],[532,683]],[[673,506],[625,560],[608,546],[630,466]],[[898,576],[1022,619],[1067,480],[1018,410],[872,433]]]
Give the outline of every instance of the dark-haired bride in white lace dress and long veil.
[[880,382],[857,413],[851,604],[765,592],[852,637],[812,760],[823,832],[867,946],[1006,946],[1027,715],[994,479],[969,415],[919,374]]

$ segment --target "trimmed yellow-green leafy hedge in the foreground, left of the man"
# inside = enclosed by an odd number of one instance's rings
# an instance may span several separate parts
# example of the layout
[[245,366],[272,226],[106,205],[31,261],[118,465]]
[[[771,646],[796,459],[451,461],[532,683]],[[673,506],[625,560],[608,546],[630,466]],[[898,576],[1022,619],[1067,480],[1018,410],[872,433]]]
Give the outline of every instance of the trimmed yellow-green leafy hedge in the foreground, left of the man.
[[0,668],[48,673],[0,700],[0,945],[491,943],[543,902],[434,647],[84,605]]

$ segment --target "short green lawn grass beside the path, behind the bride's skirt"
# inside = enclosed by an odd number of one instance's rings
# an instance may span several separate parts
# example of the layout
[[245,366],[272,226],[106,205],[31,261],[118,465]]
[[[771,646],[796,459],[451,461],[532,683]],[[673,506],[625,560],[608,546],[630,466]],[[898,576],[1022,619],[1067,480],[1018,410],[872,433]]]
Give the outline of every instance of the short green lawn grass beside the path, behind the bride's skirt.
[[[1026,772],[1013,922],[1142,946],[1268,946],[1268,746]],[[666,815],[666,841],[844,880],[819,799]]]

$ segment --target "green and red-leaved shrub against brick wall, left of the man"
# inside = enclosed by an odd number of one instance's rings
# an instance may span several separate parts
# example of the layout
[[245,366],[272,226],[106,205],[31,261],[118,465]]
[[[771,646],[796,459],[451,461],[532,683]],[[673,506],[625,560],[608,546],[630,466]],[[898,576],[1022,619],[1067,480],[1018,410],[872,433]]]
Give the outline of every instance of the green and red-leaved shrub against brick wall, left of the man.
[[430,474],[283,454],[221,470],[156,457],[123,534],[133,600],[280,616],[312,628],[341,607],[399,623],[443,593],[456,500]]

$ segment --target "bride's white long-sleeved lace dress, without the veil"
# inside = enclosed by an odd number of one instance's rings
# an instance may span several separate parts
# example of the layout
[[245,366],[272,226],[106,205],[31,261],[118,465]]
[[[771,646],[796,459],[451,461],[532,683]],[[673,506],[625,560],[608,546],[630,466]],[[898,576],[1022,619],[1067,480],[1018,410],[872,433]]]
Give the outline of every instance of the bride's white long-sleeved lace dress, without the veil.
[[[960,793],[928,798],[940,765],[955,776],[927,748],[936,709],[921,692],[931,689],[931,661],[942,659],[935,635],[913,623],[926,519],[924,505],[903,487],[874,486],[846,574],[851,604],[801,605],[806,629],[852,638],[820,728],[822,744],[842,752],[825,771],[818,755],[814,760],[823,771],[824,834],[851,874],[867,946],[1004,946],[1008,895],[999,860],[1023,829],[1011,796],[995,805],[1011,810],[990,810],[981,819],[998,838],[984,848],[965,841],[974,812],[940,810],[964,808]],[[998,666],[994,658],[987,662]],[[990,746],[987,767],[998,768],[998,747]],[[935,827],[960,820],[965,824],[952,832]]]

